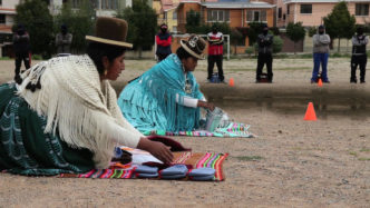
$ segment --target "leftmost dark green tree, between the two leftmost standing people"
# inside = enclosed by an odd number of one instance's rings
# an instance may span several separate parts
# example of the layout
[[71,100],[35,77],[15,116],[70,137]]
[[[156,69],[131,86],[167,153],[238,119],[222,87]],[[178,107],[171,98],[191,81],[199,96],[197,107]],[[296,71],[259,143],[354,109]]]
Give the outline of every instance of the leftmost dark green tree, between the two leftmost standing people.
[[52,17],[48,6],[41,0],[26,0],[16,7],[16,24],[25,24],[33,53],[49,58],[52,41]]

